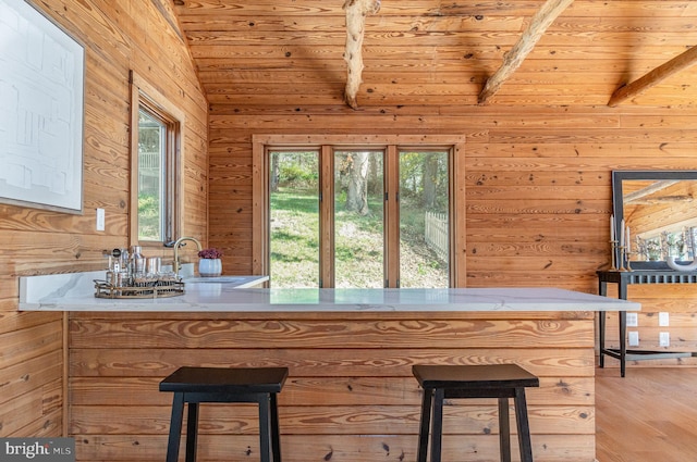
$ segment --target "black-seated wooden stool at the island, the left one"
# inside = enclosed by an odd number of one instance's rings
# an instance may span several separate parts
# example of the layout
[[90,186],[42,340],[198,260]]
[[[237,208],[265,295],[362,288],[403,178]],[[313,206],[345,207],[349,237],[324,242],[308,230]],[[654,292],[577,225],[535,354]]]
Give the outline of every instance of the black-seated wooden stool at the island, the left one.
[[201,402],[257,402],[260,461],[281,462],[277,395],[281,392],[286,377],[288,367],[184,366],[174,371],[160,382],[160,391],[174,392],[167,462],[179,459],[184,403],[188,407],[186,462],[196,461],[198,404]]

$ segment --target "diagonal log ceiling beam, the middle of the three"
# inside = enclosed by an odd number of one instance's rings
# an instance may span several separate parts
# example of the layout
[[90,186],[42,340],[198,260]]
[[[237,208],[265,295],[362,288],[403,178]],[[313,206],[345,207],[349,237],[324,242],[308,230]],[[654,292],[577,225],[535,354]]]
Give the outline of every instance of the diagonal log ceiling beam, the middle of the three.
[[479,93],[478,102],[484,104],[493,96],[501,85],[523,64],[525,58],[533,51],[537,42],[545,35],[548,27],[574,0],[547,0],[542,8],[533,16],[530,25],[523,33],[513,48],[503,55],[501,67],[487,79]]

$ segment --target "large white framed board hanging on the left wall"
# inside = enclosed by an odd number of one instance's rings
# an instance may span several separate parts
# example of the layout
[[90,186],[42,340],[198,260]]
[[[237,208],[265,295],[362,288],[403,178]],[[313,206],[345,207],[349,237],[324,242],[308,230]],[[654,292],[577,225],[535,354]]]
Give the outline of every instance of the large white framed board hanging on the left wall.
[[0,202],[82,213],[84,47],[0,0]]

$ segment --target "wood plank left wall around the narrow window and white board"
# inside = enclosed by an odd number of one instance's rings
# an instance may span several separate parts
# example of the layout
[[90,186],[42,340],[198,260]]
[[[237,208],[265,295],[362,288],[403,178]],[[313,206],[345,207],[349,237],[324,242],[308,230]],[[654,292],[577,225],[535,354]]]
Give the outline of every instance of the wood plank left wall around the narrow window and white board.
[[[63,319],[17,312],[20,275],[106,267],[129,245],[129,71],[186,114],[184,230],[207,237],[207,102],[169,1],[36,0],[86,48],[84,214],[0,204],[0,436],[60,436]],[[106,210],[96,232],[95,209]],[[163,257],[171,252],[162,253]]]

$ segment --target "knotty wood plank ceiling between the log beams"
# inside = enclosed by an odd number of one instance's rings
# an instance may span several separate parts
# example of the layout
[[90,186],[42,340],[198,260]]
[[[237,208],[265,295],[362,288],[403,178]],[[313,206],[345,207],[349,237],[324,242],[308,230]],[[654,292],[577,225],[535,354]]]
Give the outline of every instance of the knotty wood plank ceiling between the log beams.
[[[347,108],[344,0],[173,1],[211,103]],[[365,17],[357,108],[477,104],[545,3],[382,0]],[[694,107],[695,45],[696,1],[575,0],[486,102],[607,105],[649,74],[613,105]]]

